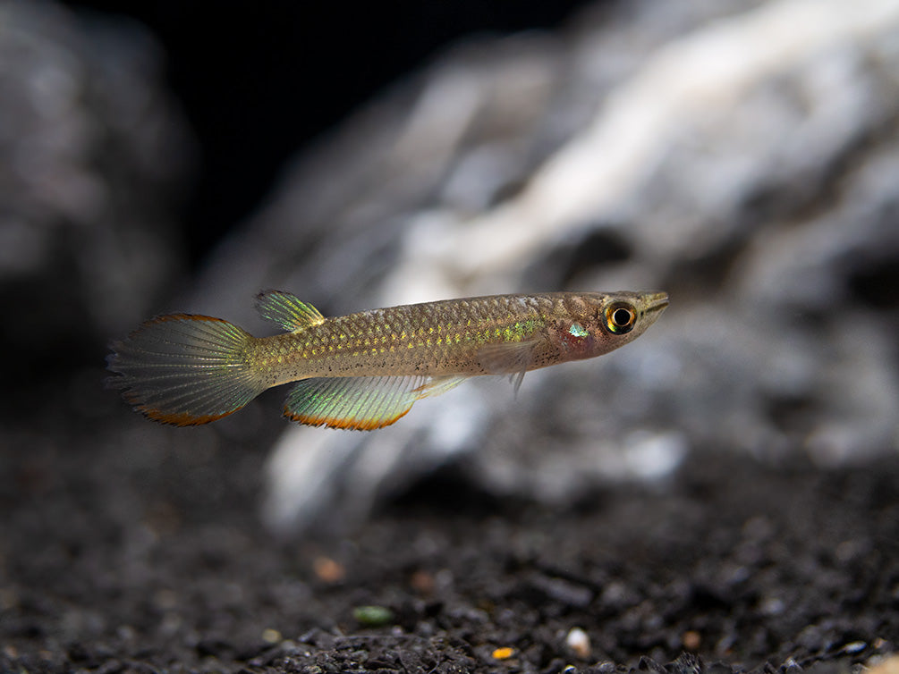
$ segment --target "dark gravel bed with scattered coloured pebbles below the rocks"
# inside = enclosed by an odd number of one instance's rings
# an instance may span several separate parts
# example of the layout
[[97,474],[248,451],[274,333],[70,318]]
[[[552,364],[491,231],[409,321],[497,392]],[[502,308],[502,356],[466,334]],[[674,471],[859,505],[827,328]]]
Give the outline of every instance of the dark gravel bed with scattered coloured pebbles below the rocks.
[[899,642],[899,458],[699,452],[567,510],[448,472],[279,542],[269,439],[121,426],[5,432],[0,670],[849,671]]

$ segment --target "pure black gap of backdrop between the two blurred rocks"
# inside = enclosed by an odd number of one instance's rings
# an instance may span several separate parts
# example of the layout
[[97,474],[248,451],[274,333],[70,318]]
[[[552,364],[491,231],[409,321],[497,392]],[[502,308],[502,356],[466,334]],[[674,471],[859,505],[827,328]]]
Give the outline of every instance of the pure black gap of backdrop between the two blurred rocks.
[[165,49],[197,137],[187,203],[196,266],[271,191],[281,167],[361,103],[466,36],[556,27],[584,0],[67,3],[128,16]]

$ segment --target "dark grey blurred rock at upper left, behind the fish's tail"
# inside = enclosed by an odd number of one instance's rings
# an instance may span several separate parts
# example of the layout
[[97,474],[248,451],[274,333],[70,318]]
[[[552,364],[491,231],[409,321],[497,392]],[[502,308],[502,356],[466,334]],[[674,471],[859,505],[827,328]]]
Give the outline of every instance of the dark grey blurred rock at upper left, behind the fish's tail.
[[174,211],[192,144],[161,61],[136,24],[0,4],[0,301],[15,307],[2,337],[13,370],[96,358],[181,270]]

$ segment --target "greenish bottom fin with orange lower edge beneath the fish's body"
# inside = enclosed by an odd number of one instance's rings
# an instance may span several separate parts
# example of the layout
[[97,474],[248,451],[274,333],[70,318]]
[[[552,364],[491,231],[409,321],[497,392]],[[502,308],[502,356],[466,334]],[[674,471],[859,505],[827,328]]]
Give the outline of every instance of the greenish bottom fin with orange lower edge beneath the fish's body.
[[291,389],[284,415],[309,426],[374,430],[397,421],[414,402],[440,395],[467,377],[316,377]]

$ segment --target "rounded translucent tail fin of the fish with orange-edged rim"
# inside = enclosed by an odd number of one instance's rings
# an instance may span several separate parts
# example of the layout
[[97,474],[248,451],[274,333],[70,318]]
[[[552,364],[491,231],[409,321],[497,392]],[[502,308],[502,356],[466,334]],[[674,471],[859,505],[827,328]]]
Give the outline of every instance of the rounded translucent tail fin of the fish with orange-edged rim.
[[254,337],[209,316],[174,314],[141,325],[111,345],[110,386],[149,419],[175,426],[236,412],[266,386],[248,358]]

